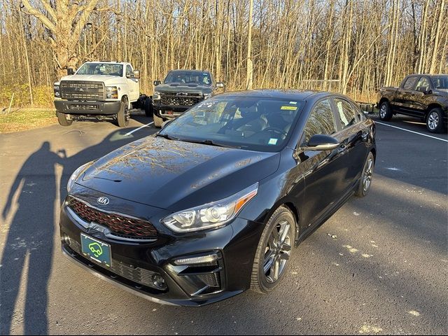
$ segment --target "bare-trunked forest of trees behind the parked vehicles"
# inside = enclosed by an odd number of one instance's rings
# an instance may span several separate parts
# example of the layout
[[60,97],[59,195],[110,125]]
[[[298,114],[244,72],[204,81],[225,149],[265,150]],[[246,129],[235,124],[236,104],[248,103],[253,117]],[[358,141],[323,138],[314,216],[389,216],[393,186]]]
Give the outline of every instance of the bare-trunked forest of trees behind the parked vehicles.
[[445,0],[0,1],[0,108],[13,93],[14,106],[51,106],[66,67],[98,59],[131,62],[148,94],[169,69],[193,68],[228,90],[374,102],[408,73],[448,72]]

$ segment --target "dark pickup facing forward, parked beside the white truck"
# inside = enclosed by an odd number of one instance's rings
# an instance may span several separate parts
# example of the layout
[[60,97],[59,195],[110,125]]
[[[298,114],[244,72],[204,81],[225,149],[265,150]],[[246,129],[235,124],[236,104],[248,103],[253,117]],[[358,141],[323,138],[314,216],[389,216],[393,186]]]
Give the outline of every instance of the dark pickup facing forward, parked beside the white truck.
[[155,127],[180,116],[191,106],[216,94],[218,88],[224,87],[221,82],[215,83],[209,71],[202,70],[172,70],[163,83],[154,80],[154,85]]

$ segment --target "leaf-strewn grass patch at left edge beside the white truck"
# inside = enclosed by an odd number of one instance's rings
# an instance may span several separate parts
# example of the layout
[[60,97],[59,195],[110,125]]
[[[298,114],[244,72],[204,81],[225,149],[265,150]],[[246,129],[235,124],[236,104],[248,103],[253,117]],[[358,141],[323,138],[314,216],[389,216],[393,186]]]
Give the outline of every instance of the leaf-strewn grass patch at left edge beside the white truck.
[[54,110],[19,109],[0,112],[0,133],[32,130],[57,123]]

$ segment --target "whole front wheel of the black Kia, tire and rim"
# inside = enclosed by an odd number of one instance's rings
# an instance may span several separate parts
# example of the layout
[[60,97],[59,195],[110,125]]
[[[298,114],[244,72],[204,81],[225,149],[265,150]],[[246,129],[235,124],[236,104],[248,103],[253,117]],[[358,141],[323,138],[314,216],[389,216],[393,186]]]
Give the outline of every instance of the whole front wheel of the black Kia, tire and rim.
[[[288,269],[288,261],[295,243],[295,228],[294,216],[286,207],[279,207],[269,218],[253,260],[251,290],[258,293],[269,293],[279,285]],[[283,244],[280,243],[279,232],[286,232]],[[279,243],[283,248],[276,247],[279,246]],[[272,265],[269,266],[269,264]],[[274,272],[275,267],[278,269],[277,272]]]

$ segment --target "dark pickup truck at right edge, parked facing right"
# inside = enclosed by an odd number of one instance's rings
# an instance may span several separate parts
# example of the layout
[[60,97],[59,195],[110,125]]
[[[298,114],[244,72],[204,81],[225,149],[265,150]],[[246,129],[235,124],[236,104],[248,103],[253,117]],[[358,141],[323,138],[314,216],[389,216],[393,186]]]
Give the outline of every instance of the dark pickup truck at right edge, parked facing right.
[[381,120],[405,114],[420,118],[429,132],[444,132],[448,122],[448,75],[409,75],[400,87],[381,87],[377,102]]

